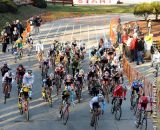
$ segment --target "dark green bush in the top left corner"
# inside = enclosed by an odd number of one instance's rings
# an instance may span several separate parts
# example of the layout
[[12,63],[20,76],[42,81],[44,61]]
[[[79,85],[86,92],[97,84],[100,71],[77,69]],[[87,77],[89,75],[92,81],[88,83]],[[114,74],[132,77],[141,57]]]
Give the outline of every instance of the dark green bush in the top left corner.
[[11,12],[16,13],[17,12],[17,6],[16,4],[11,0],[1,0],[0,1],[0,12]]

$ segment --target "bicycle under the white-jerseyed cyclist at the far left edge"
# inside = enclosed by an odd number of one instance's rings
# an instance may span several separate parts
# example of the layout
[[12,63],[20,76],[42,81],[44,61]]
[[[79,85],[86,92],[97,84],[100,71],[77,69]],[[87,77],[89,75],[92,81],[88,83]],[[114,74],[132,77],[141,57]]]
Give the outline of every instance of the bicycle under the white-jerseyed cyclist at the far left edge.
[[10,84],[9,83],[5,83],[4,84],[4,90],[3,90],[3,93],[4,93],[4,104],[6,104],[7,98],[10,97],[10,90],[11,90]]

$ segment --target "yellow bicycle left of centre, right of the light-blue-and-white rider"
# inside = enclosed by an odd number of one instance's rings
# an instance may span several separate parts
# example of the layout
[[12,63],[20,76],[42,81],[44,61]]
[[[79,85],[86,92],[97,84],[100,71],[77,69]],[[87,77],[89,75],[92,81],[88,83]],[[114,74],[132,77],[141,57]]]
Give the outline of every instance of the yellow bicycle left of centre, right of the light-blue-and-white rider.
[[45,87],[43,88],[42,90],[42,97],[45,101],[48,102],[49,106],[52,107],[52,89],[51,88],[48,88],[48,87]]

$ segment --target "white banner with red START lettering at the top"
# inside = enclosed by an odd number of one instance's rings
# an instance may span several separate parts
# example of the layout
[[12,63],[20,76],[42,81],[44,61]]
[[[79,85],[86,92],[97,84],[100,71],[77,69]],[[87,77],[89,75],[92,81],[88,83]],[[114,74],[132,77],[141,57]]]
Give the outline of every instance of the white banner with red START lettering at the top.
[[117,4],[117,0],[73,0],[78,5],[108,5]]

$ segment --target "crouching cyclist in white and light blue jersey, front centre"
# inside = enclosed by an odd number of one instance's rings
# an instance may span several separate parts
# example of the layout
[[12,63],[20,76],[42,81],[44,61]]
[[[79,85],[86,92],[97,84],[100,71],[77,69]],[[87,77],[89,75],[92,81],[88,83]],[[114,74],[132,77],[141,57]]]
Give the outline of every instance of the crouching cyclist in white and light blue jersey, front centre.
[[[100,103],[102,103],[102,106]],[[102,113],[104,112],[104,106],[105,106],[104,96],[102,94],[98,94],[97,96],[93,97],[89,102],[89,106],[90,106],[91,112],[94,109],[97,109],[97,112],[95,113],[95,115],[92,116],[92,119],[91,119],[91,126],[94,126],[94,117],[99,116],[101,112]]]

